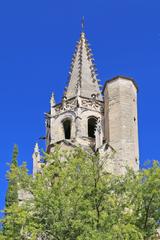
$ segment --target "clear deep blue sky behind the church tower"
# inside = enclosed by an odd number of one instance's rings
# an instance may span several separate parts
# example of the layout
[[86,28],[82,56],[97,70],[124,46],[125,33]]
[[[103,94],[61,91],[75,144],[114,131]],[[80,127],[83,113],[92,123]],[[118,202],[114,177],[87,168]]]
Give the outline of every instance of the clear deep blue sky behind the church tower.
[[120,74],[139,86],[141,163],[160,159],[159,0],[0,1],[0,209],[13,144],[31,169],[51,92],[60,101],[67,81],[83,15],[101,83]]

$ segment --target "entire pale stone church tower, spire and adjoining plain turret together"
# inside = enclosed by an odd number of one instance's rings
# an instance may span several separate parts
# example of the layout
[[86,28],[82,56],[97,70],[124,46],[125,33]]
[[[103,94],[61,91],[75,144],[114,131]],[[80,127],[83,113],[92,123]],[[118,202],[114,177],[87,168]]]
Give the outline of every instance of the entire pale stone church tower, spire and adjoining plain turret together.
[[[117,76],[106,81],[101,92],[92,51],[82,27],[62,101],[57,104],[54,93],[50,99],[50,111],[46,113],[46,151],[54,151],[56,144],[63,149],[81,146],[98,151],[108,172],[124,174],[126,167],[137,171],[137,126],[135,81]],[[33,161],[37,166],[37,153],[33,154]],[[37,171],[39,169],[34,169]]]

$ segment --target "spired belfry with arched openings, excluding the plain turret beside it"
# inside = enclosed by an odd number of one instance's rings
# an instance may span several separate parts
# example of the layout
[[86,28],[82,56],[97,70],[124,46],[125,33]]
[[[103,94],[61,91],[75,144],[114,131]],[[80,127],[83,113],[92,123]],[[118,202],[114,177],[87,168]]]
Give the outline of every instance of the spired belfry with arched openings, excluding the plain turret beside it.
[[103,105],[92,51],[82,31],[62,102],[56,104],[54,94],[51,96],[50,112],[46,114],[47,151],[52,151],[57,143],[94,149],[97,121],[103,125]]

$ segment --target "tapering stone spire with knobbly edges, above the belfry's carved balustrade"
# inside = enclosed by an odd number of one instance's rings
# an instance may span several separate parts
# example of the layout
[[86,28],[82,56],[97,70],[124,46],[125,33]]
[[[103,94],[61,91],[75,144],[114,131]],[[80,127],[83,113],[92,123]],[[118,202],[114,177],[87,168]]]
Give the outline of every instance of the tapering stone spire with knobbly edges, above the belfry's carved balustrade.
[[76,50],[72,58],[68,87],[65,92],[66,99],[79,95],[86,98],[96,96],[97,100],[102,100],[94,59],[92,56],[92,51],[89,48],[89,44],[84,33],[83,20],[80,39],[77,42]]

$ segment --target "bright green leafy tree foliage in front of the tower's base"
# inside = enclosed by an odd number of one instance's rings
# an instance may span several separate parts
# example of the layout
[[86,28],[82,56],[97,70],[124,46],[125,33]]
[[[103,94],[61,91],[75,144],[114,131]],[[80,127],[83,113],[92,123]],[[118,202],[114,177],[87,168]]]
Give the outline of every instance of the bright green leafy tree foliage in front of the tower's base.
[[[2,239],[143,240],[156,239],[160,224],[160,167],[124,176],[104,171],[98,155],[81,149],[45,154],[35,178],[16,167],[11,176],[30,193],[13,203],[2,222]],[[1,239],[1,236],[0,236]]]

